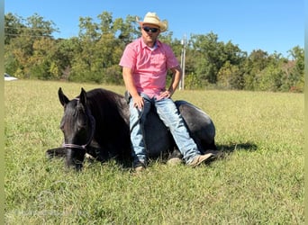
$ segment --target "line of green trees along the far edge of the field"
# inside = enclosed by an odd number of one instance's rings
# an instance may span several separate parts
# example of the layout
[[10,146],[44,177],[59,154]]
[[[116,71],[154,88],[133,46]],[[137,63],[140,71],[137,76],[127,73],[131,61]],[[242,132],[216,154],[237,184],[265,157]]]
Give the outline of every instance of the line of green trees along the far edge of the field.
[[[25,79],[67,80],[123,85],[119,61],[125,46],[140,36],[135,15],[109,12],[79,17],[76,37],[55,39],[56,24],[39,14],[5,14],[5,72]],[[288,58],[262,49],[247,53],[218,35],[191,34],[186,45],[173,32],[160,34],[180,61],[186,49],[185,88],[303,92],[304,51],[294,46]]]

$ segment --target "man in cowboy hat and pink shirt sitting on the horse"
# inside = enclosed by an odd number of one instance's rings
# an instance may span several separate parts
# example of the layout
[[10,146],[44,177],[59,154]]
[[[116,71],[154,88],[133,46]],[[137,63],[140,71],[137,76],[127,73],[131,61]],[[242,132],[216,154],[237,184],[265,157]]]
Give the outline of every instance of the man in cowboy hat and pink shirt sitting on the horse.
[[[161,121],[169,128],[177,147],[188,166],[198,166],[214,157],[213,153],[201,155],[194,139],[189,136],[185,123],[171,100],[172,94],[182,76],[172,49],[158,40],[159,33],[167,31],[168,22],[160,21],[156,13],[145,15],[140,23],[141,37],[126,46],[120,66],[130,100],[131,147],[135,171],[147,165],[142,125],[151,105],[154,105]],[[172,81],[166,89],[168,69],[173,73]],[[139,122],[139,117],[141,121]]]

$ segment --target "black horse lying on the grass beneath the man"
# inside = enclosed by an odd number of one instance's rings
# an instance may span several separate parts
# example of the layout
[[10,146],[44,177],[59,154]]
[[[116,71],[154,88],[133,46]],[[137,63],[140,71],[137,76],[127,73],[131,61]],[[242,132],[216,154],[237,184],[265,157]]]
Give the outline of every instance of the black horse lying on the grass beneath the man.
[[[77,98],[69,100],[59,88],[59,102],[64,106],[60,129],[64,134],[61,148],[47,150],[48,157],[66,157],[66,165],[82,167],[86,153],[104,162],[113,157],[131,158],[129,104],[121,94],[105,89],[86,92],[81,88]],[[215,127],[208,114],[191,103],[176,101],[190,135],[204,153],[216,149]],[[149,157],[169,153],[169,158],[181,154],[168,128],[151,109],[144,124],[144,136]]]

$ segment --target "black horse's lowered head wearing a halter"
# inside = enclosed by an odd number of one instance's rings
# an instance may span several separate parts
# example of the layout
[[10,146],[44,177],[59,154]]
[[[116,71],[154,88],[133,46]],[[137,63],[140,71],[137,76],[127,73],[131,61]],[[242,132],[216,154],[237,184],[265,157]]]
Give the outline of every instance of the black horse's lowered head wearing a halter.
[[60,129],[64,134],[63,147],[67,149],[66,164],[81,169],[86,146],[93,139],[95,119],[86,105],[86,91],[81,88],[79,97],[69,100],[59,88],[59,102],[64,107]]

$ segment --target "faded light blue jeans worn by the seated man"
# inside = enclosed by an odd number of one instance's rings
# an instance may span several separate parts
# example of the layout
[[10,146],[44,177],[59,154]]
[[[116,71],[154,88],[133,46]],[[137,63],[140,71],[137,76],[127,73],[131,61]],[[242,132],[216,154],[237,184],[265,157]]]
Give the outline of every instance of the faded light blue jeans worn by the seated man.
[[159,118],[169,128],[173,138],[176,141],[183,159],[188,164],[197,155],[201,155],[194,139],[192,139],[186,129],[182,116],[177,111],[177,106],[170,98],[156,100],[149,98],[147,94],[140,94],[144,99],[144,107],[139,110],[133,107],[132,99],[130,101],[130,126],[131,126],[131,147],[134,163],[141,162],[146,164],[146,144],[143,139],[143,124],[148,114],[151,104],[153,104],[159,114]]

